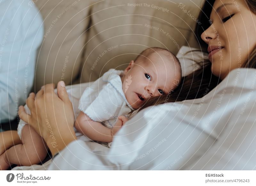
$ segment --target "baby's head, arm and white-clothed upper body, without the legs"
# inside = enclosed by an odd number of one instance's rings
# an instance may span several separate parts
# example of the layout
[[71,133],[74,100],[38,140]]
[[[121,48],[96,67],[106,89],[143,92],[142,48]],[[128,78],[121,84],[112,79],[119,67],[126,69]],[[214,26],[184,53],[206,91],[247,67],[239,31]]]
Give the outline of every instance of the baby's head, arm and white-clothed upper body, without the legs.
[[92,140],[112,142],[128,120],[128,113],[139,109],[150,97],[169,94],[180,78],[175,55],[162,48],[146,49],[124,71],[110,69],[84,91],[75,127]]

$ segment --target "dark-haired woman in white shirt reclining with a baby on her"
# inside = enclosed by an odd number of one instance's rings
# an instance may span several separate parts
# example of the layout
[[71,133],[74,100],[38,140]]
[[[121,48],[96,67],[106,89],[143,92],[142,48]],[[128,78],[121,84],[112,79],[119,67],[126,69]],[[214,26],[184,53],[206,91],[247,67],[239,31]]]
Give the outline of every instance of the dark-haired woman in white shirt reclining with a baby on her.
[[[179,99],[163,97],[157,103],[206,96],[169,103],[171,108],[157,105],[156,108],[161,111],[157,113],[150,110],[152,107],[141,111],[119,131],[110,150],[92,154],[88,145],[76,140],[72,105],[62,82],[57,86],[58,96],[54,94],[52,84],[45,85],[36,96],[31,93],[27,105],[33,111],[32,115],[27,115],[21,106],[20,118],[36,129],[55,155],[49,169],[255,169],[255,162],[252,165],[253,161],[250,161],[255,157],[255,147],[250,146],[255,143],[255,139],[241,137],[239,132],[243,131],[246,137],[255,136],[252,132],[256,129],[251,125],[252,120],[244,125],[247,119],[237,116],[243,104],[239,102],[237,108],[233,103],[238,99],[246,100],[246,97],[239,97],[238,92],[242,95],[244,91],[248,92],[248,89],[243,89],[242,82],[250,84],[247,81],[254,77],[252,74],[255,70],[247,68],[254,67],[256,61],[256,4],[252,0],[236,0],[236,4],[232,0],[222,2],[216,0],[205,3],[205,12],[200,17],[204,26],[197,28],[197,33],[209,46],[210,66],[203,64],[201,69],[184,78],[183,85],[173,93],[182,93]],[[244,69],[240,70],[240,67]],[[235,81],[238,71],[248,71],[250,74],[248,78],[238,76]],[[246,106],[246,109],[253,111],[252,102],[247,102]],[[145,119],[141,115],[148,117]],[[156,115],[157,119],[159,115],[163,116],[163,120],[156,120]],[[165,119],[165,116],[169,118]],[[187,120],[188,116],[191,116],[190,120]],[[135,121],[139,122],[133,126]],[[45,125],[46,122],[50,123],[51,131]],[[243,130],[237,123],[245,126]],[[57,141],[55,147],[51,145],[53,139],[49,137],[50,132]],[[241,149],[244,142],[248,142],[245,143],[248,145]]]

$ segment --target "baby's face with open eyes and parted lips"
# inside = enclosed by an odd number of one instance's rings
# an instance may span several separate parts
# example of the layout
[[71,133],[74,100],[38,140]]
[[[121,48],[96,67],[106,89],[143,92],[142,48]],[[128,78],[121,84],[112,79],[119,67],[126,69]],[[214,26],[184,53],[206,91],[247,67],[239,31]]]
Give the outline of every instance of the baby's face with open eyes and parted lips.
[[140,108],[150,97],[168,95],[180,83],[180,72],[174,62],[157,53],[148,59],[131,61],[122,77],[123,91],[134,109]]

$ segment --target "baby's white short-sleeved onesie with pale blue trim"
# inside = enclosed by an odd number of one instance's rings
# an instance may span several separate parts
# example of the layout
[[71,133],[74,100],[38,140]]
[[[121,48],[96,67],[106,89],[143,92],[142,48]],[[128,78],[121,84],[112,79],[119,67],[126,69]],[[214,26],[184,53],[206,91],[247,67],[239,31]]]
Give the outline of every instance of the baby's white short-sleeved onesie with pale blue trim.
[[[118,116],[127,116],[134,109],[128,103],[120,75],[122,70],[109,69],[99,79],[87,86],[88,83],[67,86],[67,92],[74,108],[75,118],[80,111],[87,114],[92,120],[101,122],[108,128],[112,128]],[[83,91],[81,97],[81,91]],[[56,93],[56,89],[55,89]],[[80,98],[81,97],[81,98]],[[80,100],[79,100],[80,99]],[[79,102],[78,102],[79,100]],[[25,110],[30,114],[27,105]],[[26,123],[20,120],[18,135],[21,139],[21,131]]]

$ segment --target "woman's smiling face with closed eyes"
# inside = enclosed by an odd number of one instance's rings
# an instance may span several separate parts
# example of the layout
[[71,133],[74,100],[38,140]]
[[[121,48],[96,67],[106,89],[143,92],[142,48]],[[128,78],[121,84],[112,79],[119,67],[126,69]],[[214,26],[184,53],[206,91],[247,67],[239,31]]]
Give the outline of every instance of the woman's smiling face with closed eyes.
[[244,0],[216,0],[209,22],[201,37],[208,44],[212,74],[223,80],[256,47],[256,15]]

